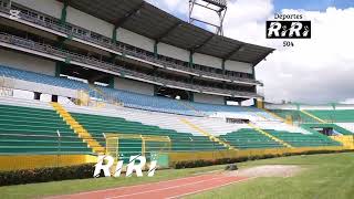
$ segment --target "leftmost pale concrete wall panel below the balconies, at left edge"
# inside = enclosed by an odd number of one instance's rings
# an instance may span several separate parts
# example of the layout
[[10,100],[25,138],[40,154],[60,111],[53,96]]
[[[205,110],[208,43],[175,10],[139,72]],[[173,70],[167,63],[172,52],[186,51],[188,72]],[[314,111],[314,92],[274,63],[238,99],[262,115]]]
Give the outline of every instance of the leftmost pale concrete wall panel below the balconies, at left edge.
[[55,62],[4,49],[0,49],[0,64],[51,76],[55,75]]

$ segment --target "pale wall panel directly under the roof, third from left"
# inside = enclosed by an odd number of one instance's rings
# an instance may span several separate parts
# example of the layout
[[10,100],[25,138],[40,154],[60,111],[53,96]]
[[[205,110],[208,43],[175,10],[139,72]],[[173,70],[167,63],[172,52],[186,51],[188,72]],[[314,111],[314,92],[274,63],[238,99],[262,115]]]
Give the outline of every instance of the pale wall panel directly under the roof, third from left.
[[126,29],[117,29],[117,40],[122,41],[123,43],[127,43],[133,46],[154,52],[154,40],[136,34]]

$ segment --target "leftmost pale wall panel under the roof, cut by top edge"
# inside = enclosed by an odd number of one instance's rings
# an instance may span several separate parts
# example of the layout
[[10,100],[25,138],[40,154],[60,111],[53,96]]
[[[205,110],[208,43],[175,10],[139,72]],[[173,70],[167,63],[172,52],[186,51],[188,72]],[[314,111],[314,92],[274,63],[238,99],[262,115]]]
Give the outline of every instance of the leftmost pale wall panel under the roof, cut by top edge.
[[12,2],[17,2],[58,19],[60,19],[62,14],[63,3],[56,0],[12,0]]

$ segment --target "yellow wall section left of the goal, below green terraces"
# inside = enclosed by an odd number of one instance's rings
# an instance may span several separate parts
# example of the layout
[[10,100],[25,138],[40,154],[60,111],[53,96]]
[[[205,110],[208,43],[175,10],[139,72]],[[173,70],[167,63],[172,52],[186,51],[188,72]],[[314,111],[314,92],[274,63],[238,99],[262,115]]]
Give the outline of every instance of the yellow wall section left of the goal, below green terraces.
[[97,157],[91,155],[9,155],[0,156],[0,170],[63,167],[88,163],[97,163]]

